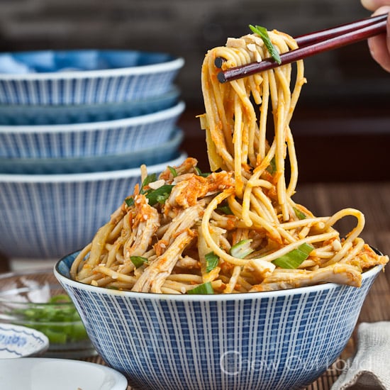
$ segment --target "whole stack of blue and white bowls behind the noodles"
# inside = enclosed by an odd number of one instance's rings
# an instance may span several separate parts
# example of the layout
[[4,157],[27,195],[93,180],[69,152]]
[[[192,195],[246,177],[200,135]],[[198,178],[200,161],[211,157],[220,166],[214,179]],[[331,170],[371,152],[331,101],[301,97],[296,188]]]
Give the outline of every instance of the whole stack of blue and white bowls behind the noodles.
[[182,58],[128,50],[0,55],[0,254],[86,245],[133,186],[180,151]]

